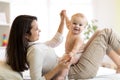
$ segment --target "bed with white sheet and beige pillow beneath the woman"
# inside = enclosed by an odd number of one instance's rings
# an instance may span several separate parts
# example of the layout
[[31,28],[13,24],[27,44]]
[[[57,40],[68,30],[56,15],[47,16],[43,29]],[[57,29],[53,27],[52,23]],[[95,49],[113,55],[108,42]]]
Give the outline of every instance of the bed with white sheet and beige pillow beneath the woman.
[[[23,80],[18,73],[12,71],[8,65],[4,64],[4,53],[4,48],[0,48],[0,80]],[[30,80],[29,70],[23,72],[23,78],[24,80]],[[113,68],[99,67],[95,78],[78,80],[120,80],[120,74],[116,74]]]

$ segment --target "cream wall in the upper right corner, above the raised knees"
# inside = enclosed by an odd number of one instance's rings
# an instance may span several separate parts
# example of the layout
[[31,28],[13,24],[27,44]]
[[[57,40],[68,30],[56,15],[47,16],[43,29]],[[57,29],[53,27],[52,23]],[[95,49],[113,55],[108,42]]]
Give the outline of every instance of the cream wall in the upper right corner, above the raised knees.
[[119,4],[119,0],[93,0],[94,18],[99,21],[100,27],[111,27],[120,31]]

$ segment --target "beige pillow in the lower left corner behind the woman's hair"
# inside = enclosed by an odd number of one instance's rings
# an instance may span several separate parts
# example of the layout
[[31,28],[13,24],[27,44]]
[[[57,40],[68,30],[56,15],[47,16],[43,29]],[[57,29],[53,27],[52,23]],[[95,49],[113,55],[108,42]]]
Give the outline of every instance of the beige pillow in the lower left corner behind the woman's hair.
[[23,78],[4,61],[0,61],[0,80],[23,80]]

